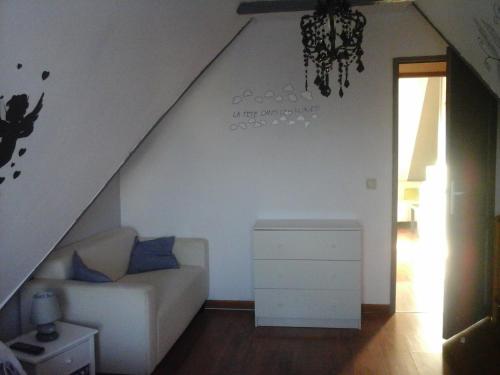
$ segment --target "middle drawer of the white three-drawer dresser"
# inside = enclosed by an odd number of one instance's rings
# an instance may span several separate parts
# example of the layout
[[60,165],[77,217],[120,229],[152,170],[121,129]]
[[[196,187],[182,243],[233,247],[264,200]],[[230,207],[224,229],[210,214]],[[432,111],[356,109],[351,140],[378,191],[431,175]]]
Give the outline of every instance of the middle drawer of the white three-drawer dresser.
[[361,262],[254,260],[255,288],[361,289]]

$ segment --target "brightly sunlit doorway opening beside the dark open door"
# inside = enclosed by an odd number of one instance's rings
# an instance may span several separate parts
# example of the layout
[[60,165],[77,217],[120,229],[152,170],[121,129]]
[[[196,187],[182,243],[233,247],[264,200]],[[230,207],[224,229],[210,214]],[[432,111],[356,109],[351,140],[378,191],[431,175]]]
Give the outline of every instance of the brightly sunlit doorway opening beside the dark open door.
[[395,312],[442,324],[446,230],[446,61],[395,61]]

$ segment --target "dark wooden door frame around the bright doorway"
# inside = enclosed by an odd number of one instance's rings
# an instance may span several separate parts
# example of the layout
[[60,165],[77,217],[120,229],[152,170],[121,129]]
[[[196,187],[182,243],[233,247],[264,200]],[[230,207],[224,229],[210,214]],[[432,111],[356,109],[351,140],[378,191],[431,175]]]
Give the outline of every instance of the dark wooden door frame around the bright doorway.
[[[398,220],[398,139],[399,139],[399,65],[412,63],[447,62],[446,55],[397,57],[392,73],[392,218],[391,218],[391,291],[390,314],[396,312],[397,220]],[[429,75],[431,76],[431,75]]]

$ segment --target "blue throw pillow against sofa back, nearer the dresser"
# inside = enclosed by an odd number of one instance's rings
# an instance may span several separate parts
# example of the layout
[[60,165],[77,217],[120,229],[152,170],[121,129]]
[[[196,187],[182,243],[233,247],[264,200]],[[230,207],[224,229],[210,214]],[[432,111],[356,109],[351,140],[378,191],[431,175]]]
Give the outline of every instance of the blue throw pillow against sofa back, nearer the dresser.
[[154,240],[139,241],[135,238],[130,254],[128,274],[141,273],[169,268],[179,268],[179,263],[172,253],[175,237],[160,237]]

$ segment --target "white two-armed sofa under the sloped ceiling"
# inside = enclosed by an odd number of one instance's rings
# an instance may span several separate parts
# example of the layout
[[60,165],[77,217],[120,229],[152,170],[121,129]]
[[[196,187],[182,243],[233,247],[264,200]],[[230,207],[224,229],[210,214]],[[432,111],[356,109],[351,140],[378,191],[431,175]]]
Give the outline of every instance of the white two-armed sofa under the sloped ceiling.
[[[29,323],[36,291],[52,289],[59,296],[63,320],[99,330],[96,363],[99,372],[150,374],[208,297],[208,243],[176,238],[173,252],[179,269],[126,275],[137,235],[119,228],[55,250],[21,291],[23,331]],[[73,252],[89,256],[117,281],[70,280]]]

